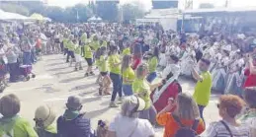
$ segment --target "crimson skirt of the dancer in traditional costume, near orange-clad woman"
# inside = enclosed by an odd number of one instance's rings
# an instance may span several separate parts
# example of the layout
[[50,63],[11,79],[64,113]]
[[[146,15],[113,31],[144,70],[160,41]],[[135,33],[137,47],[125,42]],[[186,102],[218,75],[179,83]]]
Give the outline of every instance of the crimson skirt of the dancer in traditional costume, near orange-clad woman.
[[[157,102],[154,103],[155,109],[157,112],[161,111],[168,103],[169,98],[176,99],[177,95],[179,94],[179,86],[177,82],[171,83],[167,89],[160,95],[160,98]],[[153,94],[151,94],[152,98]],[[171,111],[174,111],[176,107],[173,107]]]

